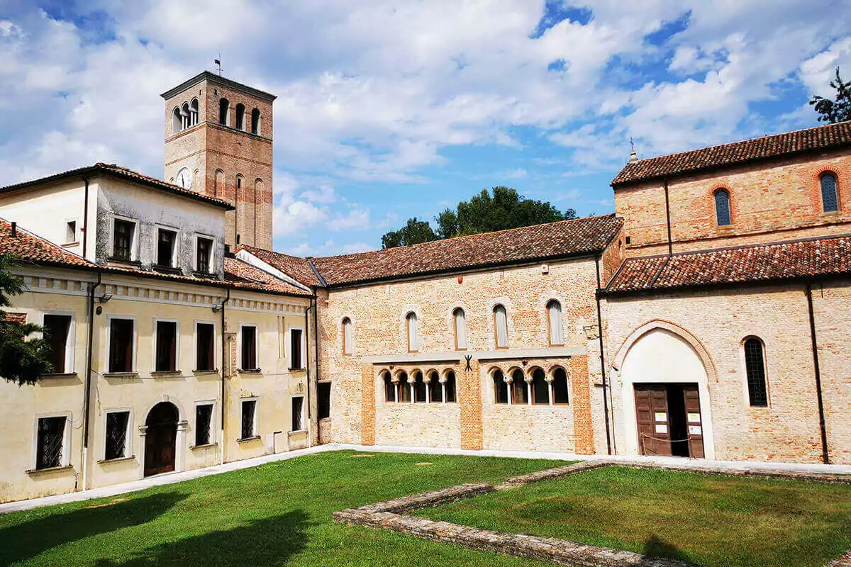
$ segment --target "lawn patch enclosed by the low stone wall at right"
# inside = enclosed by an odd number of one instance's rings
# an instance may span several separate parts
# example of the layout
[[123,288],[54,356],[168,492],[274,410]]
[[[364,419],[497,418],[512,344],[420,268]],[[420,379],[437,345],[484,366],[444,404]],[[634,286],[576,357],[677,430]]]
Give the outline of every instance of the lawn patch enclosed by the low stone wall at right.
[[820,567],[851,549],[851,486],[599,468],[422,510],[713,567]]

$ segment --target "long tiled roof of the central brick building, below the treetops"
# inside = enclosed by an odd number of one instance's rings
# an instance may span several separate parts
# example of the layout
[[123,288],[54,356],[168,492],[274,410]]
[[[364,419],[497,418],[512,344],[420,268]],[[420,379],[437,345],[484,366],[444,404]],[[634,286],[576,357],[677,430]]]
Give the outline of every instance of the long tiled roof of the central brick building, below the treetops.
[[614,214],[576,218],[311,262],[328,286],[382,281],[601,252],[621,224]]

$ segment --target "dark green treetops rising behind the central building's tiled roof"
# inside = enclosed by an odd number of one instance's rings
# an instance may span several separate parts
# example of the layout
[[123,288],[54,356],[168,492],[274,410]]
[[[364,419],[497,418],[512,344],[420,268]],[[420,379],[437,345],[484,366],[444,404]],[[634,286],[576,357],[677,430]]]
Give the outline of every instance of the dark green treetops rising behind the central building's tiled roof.
[[576,218],[574,209],[562,213],[548,202],[527,199],[517,190],[500,186],[490,191],[483,189],[470,201],[461,201],[454,209],[445,209],[435,218],[437,230],[432,230],[426,221],[410,218],[402,229],[382,236],[381,243],[384,248],[392,248],[568,218]]

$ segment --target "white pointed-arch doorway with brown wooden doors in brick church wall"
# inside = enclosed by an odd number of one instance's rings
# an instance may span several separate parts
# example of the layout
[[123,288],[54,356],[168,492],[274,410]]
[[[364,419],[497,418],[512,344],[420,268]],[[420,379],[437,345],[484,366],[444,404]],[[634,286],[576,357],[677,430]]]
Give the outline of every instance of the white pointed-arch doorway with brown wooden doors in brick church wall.
[[[671,439],[667,446],[675,455],[694,454],[700,441],[703,456],[715,458],[709,379],[701,354],[663,326],[650,328],[631,343],[620,364],[626,454],[640,455],[648,442]],[[677,445],[674,440],[681,438],[692,440]],[[683,451],[678,452],[680,447]]]

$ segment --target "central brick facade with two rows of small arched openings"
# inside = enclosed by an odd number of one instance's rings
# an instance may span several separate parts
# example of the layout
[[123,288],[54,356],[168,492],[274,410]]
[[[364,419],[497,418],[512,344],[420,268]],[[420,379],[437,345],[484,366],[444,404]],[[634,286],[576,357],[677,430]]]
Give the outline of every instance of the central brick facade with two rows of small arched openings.
[[[460,280],[459,280],[460,278]],[[596,325],[596,267],[576,259],[332,290],[320,301],[323,379],[334,381],[332,439],[383,445],[455,446],[593,451],[588,339]],[[564,345],[550,346],[546,303],[562,303]],[[496,303],[508,314],[509,348],[495,349]],[[465,310],[467,343],[455,349],[453,311]],[[420,349],[408,353],[405,315],[418,315]],[[342,320],[354,326],[353,354],[342,353]],[[558,349],[558,350],[556,350]],[[569,356],[557,357],[557,353]],[[550,355],[541,356],[551,352]],[[466,370],[465,355],[471,356]],[[428,360],[431,359],[436,360]],[[495,357],[495,359],[494,359]],[[591,360],[599,360],[597,354]],[[525,365],[523,365],[525,361]],[[548,407],[496,407],[488,395],[489,370],[559,364],[571,378],[571,403]],[[455,404],[403,404],[384,400],[379,371],[407,368],[424,374],[452,369]],[[597,364],[598,366],[598,364]],[[579,414],[577,415],[577,411]],[[500,419],[497,414],[511,418]],[[574,429],[585,429],[574,445]]]

